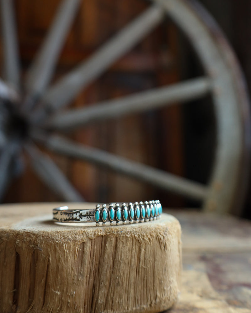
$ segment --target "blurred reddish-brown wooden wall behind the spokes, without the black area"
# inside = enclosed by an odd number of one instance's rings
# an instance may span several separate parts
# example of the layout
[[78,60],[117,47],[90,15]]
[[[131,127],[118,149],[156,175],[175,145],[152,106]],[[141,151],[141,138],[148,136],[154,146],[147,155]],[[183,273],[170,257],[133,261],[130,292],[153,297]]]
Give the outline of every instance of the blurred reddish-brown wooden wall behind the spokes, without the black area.
[[[16,2],[23,70],[28,68],[49,29],[59,0]],[[83,0],[67,38],[54,79],[87,58],[123,25],[149,4],[143,0]],[[72,106],[127,95],[179,80],[178,34],[166,20],[130,53],[78,95]],[[183,174],[182,127],[179,106],[87,126],[70,135],[84,144]],[[53,156],[88,201],[136,201],[161,197],[165,205],[182,205],[149,185],[121,177],[85,162]],[[29,168],[12,183],[5,202],[60,200],[51,194]]]

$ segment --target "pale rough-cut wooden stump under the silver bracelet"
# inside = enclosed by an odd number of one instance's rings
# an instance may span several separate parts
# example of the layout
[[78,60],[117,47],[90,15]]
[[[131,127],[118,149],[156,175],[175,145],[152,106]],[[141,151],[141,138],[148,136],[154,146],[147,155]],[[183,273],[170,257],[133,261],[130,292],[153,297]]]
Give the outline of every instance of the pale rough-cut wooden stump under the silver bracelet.
[[132,225],[56,224],[51,210],[59,205],[1,206],[1,312],[160,312],[176,302],[177,219],[163,213]]

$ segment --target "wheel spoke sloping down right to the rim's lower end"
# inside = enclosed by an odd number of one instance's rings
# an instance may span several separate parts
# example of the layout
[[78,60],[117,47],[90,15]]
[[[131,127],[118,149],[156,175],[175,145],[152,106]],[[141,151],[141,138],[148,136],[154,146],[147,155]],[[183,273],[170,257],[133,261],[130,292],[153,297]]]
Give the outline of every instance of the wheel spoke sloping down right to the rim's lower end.
[[59,154],[98,164],[189,198],[199,200],[206,198],[207,187],[200,183],[188,181],[153,167],[115,156],[103,150],[76,144],[59,136],[51,136],[49,139],[39,138],[37,136],[36,139],[42,140],[48,149]]

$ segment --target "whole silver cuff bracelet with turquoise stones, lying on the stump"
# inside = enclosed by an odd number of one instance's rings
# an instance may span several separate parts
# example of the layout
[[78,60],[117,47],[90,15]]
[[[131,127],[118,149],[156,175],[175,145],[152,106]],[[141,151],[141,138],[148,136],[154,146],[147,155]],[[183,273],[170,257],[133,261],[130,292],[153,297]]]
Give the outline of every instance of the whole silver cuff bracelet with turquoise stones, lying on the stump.
[[53,221],[58,223],[92,223],[97,226],[132,224],[148,222],[159,218],[162,205],[159,200],[135,203],[96,204],[96,208],[72,210],[68,207],[59,207],[52,210]]

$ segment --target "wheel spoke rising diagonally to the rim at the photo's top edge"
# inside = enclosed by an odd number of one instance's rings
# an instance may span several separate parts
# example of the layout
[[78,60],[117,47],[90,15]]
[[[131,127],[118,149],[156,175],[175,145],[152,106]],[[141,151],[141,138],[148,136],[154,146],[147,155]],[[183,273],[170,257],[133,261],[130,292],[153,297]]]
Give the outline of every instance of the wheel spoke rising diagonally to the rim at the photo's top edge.
[[43,102],[49,105],[51,110],[67,105],[80,90],[149,33],[161,21],[163,15],[163,9],[159,6],[152,6],[147,9],[104,44],[87,61],[84,61],[52,86],[45,93]]

